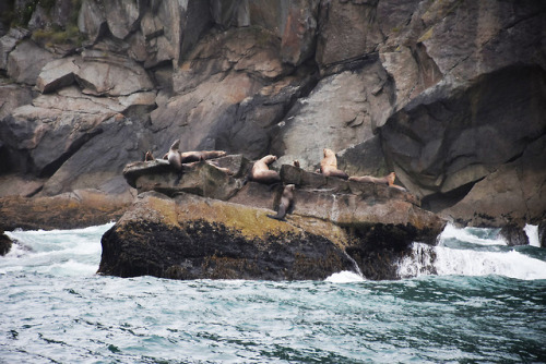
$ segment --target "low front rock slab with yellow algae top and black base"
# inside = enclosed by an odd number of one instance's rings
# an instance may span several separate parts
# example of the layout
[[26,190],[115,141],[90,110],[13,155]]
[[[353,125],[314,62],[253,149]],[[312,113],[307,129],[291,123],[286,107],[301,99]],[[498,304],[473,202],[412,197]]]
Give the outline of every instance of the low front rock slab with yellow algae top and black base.
[[[332,227],[270,219],[268,210],[182,194],[139,196],[102,240],[99,274],[173,279],[325,279],[353,263]],[[324,229],[316,221],[316,228]],[[332,239],[332,240],[330,240]],[[151,241],[153,244],[150,244]]]

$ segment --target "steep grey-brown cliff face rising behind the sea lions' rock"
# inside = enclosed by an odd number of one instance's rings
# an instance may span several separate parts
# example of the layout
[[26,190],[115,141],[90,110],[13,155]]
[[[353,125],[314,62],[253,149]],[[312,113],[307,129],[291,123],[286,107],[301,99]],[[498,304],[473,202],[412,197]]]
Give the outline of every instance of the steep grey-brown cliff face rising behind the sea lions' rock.
[[123,167],[181,138],[309,171],[329,147],[464,223],[546,219],[542,1],[1,7],[2,201],[91,189],[123,206]]

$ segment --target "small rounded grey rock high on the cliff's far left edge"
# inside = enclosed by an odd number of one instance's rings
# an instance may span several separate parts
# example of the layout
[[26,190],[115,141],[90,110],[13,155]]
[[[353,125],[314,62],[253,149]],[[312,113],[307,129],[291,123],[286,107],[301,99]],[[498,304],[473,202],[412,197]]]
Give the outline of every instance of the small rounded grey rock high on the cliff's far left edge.
[[54,56],[50,52],[31,40],[25,40],[10,52],[8,75],[17,83],[35,85],[41,68],[52,59]]

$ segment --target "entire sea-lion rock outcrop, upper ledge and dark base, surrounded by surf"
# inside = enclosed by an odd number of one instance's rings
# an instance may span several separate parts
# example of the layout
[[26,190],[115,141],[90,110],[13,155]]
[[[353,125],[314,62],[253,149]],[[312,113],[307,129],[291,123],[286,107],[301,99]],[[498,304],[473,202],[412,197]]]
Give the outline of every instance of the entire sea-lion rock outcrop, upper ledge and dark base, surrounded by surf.
[[412,242],[434,244],[446,223],[399,189],[288,165],[281,177],[297,185],[295,206],[277,221],[268,214],[282,186],[245,183],[251,163],[241,156],[213,163],[183,165],[181,179],[166,160],[128,165],[124,177],[140,194],[103,236],[99,272],[286,280],[354,270],[395,279]]

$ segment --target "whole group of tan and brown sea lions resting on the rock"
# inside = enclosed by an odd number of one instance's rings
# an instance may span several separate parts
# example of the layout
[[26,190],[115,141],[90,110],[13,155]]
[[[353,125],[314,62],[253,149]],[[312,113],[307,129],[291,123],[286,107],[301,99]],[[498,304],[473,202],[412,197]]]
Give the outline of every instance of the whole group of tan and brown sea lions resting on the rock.
[[[169,151],[165,154],[163,159],[167,159],[180,174],[177,181],[180,180],[182,172],[182,163],[190,162],[201,162],[213,158],[223,157],[226,155],[224,150],[201,150],[201,151],[183,151],[179,150],[180,139],[176,139],[169,148]],[[394,184],[394,180],[396,174],[394,172],[389,173],[385,177],[377,178],[371,175],[353,175],[349,177],[344,171],[337,169],[337,158],[335,157],[335,153],[332,149],[324,148],[322,150],[323,158],[320,161],[320,169],[317,172],[320,172],[328,177],[336,177],[343,180],[355,181],[355,182],[371,182],[378,184],[387,184],[390,187],[394,187],[401,191],[406,191],[403,186]],[[152,153],[149,150],[145,154],[144,160],[153,160],[154,157]],[[270,170],[269,165],[273,163],[276,160],[276,156],[268,155],[261,159],[258,159],[252,169],[250,170],[247,181],[254,181],[258,183],[270,184],[272,186],[281,183],[281,175],[277,171]],[[211,166],[216,167],[217,169],[232,174],[232,172],[226,168],[221,168],[214,161],[207,161]],[[295,160],[294,166],[299,168],[299,161]],[[178,183],[178,182],[176,182]],[[283,189],[283,193],[281,195],[281,203],[278,205],[276,215],[268,215],[268,217],[277,220],[285,220],[286,214],[290,214],[294,210],[294,192],[296,191],[295,184],[287,184]]]

